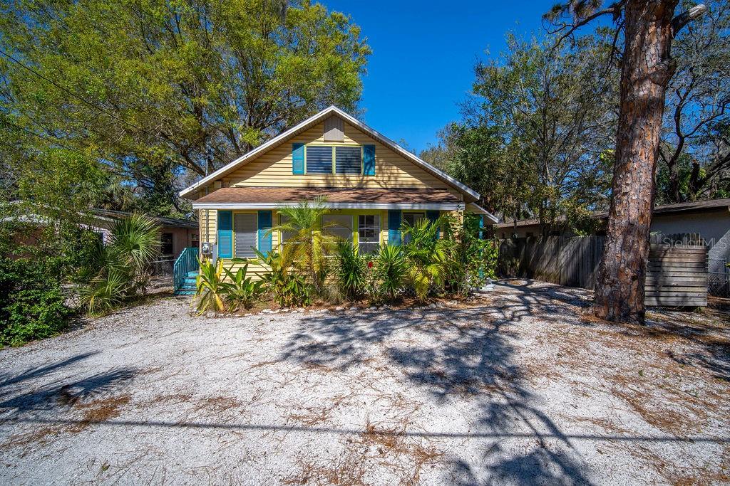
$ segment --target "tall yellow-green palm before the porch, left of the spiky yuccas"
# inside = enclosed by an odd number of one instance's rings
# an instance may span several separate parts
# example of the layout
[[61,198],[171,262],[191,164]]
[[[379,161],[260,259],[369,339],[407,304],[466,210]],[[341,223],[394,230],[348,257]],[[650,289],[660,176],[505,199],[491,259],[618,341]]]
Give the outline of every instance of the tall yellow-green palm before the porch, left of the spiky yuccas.
[[329,225],[322,223],[322,216],[328,212],[326,199],[315,197],[311,202],[301,201],[278,211],[283,216],[282,221],[272,227],[269,234],[278,231],[280,235],[287,235],[281,249],[285,265],[295,265],[307,272],[315,291],[321,294],[326,273],[325,257],[335,244],[335,238],[324,231]]

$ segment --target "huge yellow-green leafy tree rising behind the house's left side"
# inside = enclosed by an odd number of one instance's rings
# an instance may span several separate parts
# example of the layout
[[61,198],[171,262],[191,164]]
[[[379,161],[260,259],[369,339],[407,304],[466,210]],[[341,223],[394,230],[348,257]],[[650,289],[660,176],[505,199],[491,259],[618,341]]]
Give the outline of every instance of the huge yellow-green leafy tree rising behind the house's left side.
[[107,162],[156,212],[185,213],[175,185],[324,106],[356,109],[370,52],[359,28],[285,4],[6,1],[0,114]]

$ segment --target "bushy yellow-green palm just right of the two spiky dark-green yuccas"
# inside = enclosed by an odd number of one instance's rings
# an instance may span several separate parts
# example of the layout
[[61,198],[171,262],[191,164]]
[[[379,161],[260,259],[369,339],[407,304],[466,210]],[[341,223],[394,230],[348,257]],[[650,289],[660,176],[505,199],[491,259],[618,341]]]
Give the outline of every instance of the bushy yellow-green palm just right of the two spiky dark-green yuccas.
[[444,283],[447,241],[438,238],[442,224],[441,218],[436,222],[420,219],[413,225],[403,224],[403,232],[409,237],[403,246],[406,278],[419,302],[426,302],[431,290]]

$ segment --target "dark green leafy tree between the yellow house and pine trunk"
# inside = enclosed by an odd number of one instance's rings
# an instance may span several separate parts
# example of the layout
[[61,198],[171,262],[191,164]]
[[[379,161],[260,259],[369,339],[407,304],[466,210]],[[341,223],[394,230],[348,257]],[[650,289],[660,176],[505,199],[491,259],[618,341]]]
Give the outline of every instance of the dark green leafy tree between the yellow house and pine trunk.
[[609,35],[558,49],[510,35],[501,58],[477,64],[449,167],[487,208],[515,219],[528,210],[549,232],[576,206],[605,205],[616,101]]

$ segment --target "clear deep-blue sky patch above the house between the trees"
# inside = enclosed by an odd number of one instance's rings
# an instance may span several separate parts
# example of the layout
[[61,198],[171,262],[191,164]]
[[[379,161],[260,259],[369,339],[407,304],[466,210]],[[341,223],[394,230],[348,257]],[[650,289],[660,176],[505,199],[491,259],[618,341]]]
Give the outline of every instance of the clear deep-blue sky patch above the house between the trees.
[[373,53],[364,78],[364,122],[417,150],[459,119],[479,58],[504,50],[504,34],[529,36],[556,0],[320,0],[361,26]]

